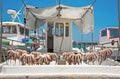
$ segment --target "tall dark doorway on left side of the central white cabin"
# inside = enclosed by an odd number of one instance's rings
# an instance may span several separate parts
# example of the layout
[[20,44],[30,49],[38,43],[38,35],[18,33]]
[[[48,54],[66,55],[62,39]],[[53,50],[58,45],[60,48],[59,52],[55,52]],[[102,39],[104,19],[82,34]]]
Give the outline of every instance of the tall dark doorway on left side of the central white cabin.
[[53,33],[53,22],[48,22],[47,24],[47,52],[53,52],[54,51],[54,33]]

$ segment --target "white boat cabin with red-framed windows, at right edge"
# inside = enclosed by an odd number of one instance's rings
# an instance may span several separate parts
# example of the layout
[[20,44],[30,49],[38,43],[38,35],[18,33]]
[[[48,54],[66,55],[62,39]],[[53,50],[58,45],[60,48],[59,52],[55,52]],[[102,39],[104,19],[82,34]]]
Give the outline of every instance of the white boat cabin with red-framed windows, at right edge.
[[100,31],[100,44],[105,44],[106,47],[117,47],[117,41],[119,41],[119,28],[105,28]]

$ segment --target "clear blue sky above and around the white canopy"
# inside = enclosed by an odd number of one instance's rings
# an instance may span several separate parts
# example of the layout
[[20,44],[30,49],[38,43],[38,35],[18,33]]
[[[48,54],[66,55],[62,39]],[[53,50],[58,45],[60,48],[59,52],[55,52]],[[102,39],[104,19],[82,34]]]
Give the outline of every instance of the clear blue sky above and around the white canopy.
[[[57,0],[24,0],[26,4],[37,7],[49,7],[57,4]],[[61,3],[73,7],[89,5],[94,0],[61,0]],[[10,21],[8,9],[18,11],[22,0],[2,0],[3,21]],[[20,15],[23,20],[23,12]],[[118,0],[96,0],[94,4],[94,42],[99,41],[99,31],[106,27],[118,27]],[[91,42],[91,33],[83,35],[84,42]],[[73,25],[73,40],[81,41],[81,32]]]

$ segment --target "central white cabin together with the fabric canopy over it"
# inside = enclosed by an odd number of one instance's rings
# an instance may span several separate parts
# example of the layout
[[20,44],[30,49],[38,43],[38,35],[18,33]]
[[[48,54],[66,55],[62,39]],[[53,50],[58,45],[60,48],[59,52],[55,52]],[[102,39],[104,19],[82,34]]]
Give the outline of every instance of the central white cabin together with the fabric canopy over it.
[[25,18],[28,26],[34,30],[46,24],[46,52],[72,51],[72,24],[84,34],[89,33],[94,25],[90,5],[77,8],[62,4],[48,8],[27,6]]

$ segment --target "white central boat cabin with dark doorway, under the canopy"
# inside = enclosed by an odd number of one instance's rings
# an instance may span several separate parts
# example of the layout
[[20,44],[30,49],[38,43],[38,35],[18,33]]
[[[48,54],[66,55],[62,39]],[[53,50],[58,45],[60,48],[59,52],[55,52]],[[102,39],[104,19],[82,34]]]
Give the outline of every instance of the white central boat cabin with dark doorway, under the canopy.
[[47,20],[47,52],[72,51],[72,22],[70,19]]

